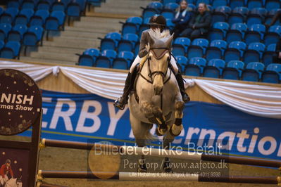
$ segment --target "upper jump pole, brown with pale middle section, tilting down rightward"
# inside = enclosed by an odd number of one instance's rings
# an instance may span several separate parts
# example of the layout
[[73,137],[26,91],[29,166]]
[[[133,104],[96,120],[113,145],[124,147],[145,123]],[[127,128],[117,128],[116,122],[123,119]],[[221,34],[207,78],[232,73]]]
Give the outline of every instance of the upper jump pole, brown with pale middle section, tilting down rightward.
[[224,160],[227,163],[239,164],[239,165],[256,165],[263,167],[275,167],[281,169],[281,162],[275,160],[261,160],[246,157],[233,157],[225,155],[207,155],[202,153],[194,153],[181,150],[163,150],[156,148],[140,148],[135,146],[113,146],[100,143],[80,143],[74,141],[53,141],[48,139],[42,139],[40,147],[57,147],[57,148],[74,148],[82,150],[91,150],[92,148],[99,148],[104,151],[118,152],[120,154],[130,153],[131,155],[150,155],[157,157],[170,157],[184,160],[204,160],[220,162]]

